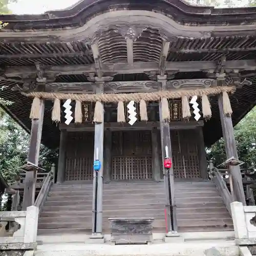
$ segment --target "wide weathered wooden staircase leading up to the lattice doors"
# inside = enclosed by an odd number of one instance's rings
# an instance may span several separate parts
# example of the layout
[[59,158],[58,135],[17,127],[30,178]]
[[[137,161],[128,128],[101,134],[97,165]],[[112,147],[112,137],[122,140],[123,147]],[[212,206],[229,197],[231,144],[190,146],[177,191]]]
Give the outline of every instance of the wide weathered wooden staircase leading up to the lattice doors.
[[[179,232],[233,230],[232,219],[208,182],[176,182]],[[165,232],[162,182],[112,182],[103,186],[103,233],[108,218],[154,217],[153,232]],[[39,217],[38,234],[92,232],[92,184],[54,185]]]

